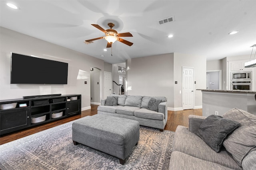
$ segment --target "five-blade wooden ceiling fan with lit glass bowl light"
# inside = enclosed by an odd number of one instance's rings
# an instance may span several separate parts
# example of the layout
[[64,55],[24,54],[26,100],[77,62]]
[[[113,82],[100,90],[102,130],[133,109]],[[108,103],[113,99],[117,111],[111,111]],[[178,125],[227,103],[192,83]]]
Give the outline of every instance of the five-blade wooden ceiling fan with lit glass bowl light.
[[133,45],[133,43],[131,43],[130,41],[126,41],[120,37],[133,37],[131,33],[118,33],[116,30],[112,29],[112,27],[114,27],[114,23],[108,23],[108,26],[110,27],[110,29],[103,29],[100,25],[97,24],[91,24],[92,26],[100,29],[100,31],[104,32],[106,34],[106,37],[98,37],[98,38],[94,38],[94,39],[88,39],[85,40],[85,43],[90,43],[91,41],[97,40],[97,39],[106,39],[108,41],[107,44],[107,48],[112,47],[112,43],[114,43],[115,41],[120,41],[121,43],[124,43],[126,45]]

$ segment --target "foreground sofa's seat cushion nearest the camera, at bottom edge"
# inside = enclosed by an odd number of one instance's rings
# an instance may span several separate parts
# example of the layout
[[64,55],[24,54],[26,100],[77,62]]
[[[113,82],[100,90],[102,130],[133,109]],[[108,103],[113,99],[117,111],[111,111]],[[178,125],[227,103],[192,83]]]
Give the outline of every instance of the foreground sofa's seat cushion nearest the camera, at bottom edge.
[[169,170],[232,170],[214,162],[195,158],[182,152],[171,154]]

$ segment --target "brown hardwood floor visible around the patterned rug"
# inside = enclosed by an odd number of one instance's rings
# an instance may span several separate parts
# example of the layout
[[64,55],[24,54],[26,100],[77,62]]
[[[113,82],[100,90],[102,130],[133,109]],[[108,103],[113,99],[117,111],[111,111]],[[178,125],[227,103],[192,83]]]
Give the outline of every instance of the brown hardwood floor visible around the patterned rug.
[[[15,131],[12,133],[1,135],[0,145],[14,141],[16,139],[20,139],[22,137],[26,137],[28,135],[32,135],[34,133],[49,129],[51,127],[55,127],[55,126],[67,123],[69,121],[79,119],[81,117],[95,115],[97,114],[97,107],[98,105],[91,105],[91,109],[82,111],[81,115],[75,115],[75,116],[67,117],[65,119],[60,119],[60,120],[56,120],[46,124],[42,124],[42,125],[38,125],[38,126],[34,126],[34,127],[19,130],[19,131]],[[202,109],[168,111],[168,119],[164,129],[169,131],[175,131],[178,125],[183,125],[188,127],[188,115],[202,115]]]

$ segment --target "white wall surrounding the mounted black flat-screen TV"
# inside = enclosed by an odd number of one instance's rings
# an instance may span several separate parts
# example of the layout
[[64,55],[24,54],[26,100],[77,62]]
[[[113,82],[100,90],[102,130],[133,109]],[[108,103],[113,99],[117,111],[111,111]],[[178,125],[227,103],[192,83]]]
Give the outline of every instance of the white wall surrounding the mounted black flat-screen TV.
[[[103,60],[3,27],[0,27],[0,37],[0,100],[44,94],[81,94],[82,110],[90,109],[90,68],[104,71]],[[68,84],[10,84],[10,52],[68,63]]]

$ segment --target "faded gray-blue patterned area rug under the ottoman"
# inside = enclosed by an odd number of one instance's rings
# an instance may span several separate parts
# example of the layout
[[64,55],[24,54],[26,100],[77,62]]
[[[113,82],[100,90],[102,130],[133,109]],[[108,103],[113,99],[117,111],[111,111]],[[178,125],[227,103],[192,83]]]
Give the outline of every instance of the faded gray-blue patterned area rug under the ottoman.
[[124,165],[72,142],[72,122],[0,145],[1,170],[168,170],[174,132],[140,126],[140,141]]

